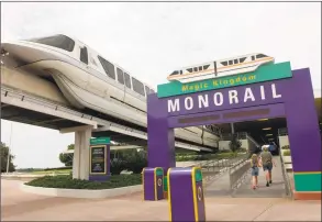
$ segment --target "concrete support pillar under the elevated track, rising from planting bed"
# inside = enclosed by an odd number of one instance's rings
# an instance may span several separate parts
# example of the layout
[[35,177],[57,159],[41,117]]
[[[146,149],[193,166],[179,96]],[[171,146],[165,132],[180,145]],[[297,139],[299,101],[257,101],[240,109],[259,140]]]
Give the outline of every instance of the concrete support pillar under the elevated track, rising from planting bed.
[[89,178],[89,140],[91,127],[81,129],[75,132],[75,151],[73,159],[73,178]]

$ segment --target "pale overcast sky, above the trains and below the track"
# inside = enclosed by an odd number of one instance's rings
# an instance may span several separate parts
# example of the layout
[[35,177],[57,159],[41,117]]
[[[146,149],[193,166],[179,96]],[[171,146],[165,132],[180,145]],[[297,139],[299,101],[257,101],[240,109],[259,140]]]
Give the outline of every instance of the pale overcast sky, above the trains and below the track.
[[[310,67],[321,96],[320,2],[1,3],[1,41],[57,33],[155,88],[180,67],[264,53],[292,69]],[[74,134],[1,120],[1,141],[19,168],[59,167]]]

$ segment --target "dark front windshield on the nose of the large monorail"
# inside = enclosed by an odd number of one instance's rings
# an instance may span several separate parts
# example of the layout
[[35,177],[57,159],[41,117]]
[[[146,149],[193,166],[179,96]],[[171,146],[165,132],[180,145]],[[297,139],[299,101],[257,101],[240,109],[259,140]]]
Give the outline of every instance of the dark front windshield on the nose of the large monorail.
[[49,46],[57,47],[68,52],[73,52],[75,46],[74,40],[71,40],[70,37],[67,37],[66,35],[54,35],[54,36],[32,38],[26,41],[43,44],[43,45],[49,45]]

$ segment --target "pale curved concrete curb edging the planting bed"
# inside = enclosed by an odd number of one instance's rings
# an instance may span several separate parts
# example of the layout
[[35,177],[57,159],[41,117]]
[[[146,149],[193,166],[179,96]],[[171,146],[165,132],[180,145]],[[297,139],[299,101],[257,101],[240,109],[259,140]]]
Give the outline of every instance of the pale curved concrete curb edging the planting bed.
[[88,198],[88,199],[100,199],[100,198],[113,198],[119,196],[129,196],[134,192],[142,191],[142,185],[121,187],[114,189],[103,190],[86,190],[86,189],[60,189],[60,188],[44,188],[33,187],[22,184],[21,190],[34,195],[51,196],[51,197],[64,197],[64,198]]

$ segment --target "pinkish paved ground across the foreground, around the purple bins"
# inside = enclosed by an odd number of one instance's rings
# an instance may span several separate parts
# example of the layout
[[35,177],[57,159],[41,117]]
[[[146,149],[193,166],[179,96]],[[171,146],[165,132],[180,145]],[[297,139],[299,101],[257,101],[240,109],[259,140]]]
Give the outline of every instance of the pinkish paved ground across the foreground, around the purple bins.
[[[114,199],[71,199],[22,192],[21,181],[1,180],[2,221],[169,221],[166,200],[142,193]],[[281,198],[206,198],[208,221],[321,221],[320,201]]]

